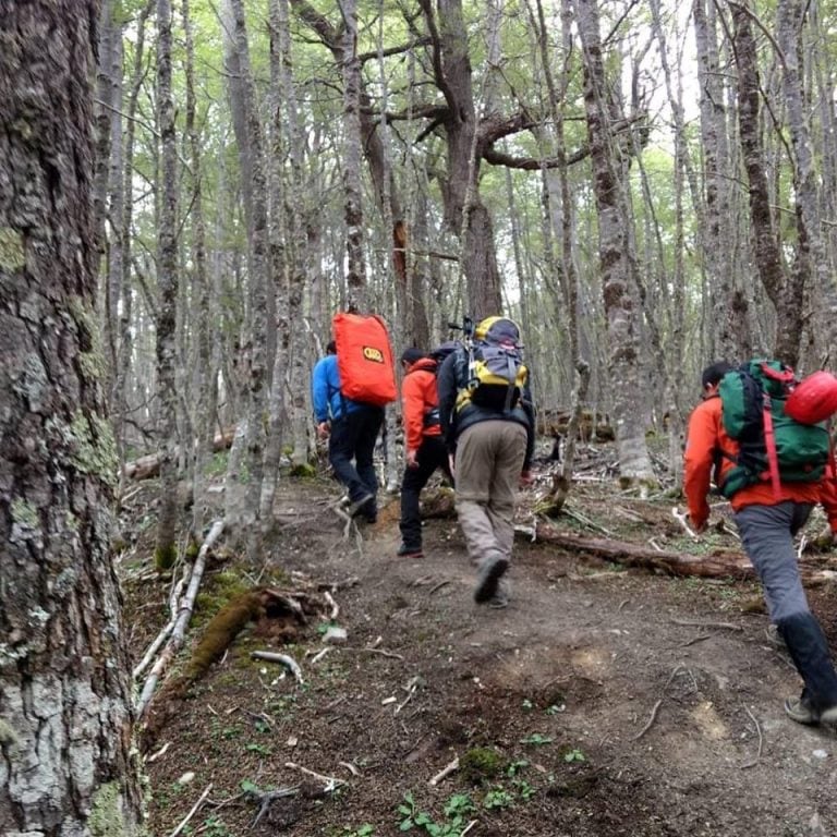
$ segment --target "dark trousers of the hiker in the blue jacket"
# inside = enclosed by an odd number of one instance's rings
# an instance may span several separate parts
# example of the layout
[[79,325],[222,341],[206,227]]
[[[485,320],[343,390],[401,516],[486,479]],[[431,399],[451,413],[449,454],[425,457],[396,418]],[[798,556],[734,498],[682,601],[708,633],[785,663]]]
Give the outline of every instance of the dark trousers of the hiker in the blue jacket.
[[[363,405],[331,422],[328,459],[337,478],[347,487],[352,502],[364,495],[373,497],[378,490],[373,454],[375,442],[384,423],[384,409]],[[354,460],[354,462],[352,462]],[[375,512],[375,501],[365,507]]]

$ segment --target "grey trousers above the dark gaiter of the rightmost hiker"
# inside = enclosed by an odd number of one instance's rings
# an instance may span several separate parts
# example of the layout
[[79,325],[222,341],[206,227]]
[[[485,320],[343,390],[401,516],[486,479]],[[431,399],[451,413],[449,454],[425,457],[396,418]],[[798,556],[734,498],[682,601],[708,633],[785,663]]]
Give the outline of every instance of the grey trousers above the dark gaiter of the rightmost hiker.
[[771,621],[809,612],[793,548],[793,535],[805,524],[811,505],[787,500],[776,506],[745,506],[736,525],[748,558],[764,587]]

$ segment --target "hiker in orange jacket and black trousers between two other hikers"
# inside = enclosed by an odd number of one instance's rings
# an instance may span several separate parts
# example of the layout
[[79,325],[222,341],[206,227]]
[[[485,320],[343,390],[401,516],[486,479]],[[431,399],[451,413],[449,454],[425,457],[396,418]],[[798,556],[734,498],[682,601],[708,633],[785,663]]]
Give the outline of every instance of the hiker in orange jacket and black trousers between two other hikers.
[[437,364],[437,357],[428,357],[420,349],[407,349],[401,355],[405,372],[401,404],[407,464],[401,481],[401,546],[397,553],[401,558],[423,556],[418,498],[433,472],[440,468],[453,481],[439,423]]

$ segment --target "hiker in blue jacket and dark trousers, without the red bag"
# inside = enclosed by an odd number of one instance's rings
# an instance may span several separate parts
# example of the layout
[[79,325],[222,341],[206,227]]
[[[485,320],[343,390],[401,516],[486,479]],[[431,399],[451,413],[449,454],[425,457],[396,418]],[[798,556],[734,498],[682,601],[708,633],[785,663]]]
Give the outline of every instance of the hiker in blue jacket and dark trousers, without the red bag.
[[[349,492],[347,511],[369,523],[378,517],[378,478],[373,464],[375,442],[384,423],[384,408],[352,401],[340,392],[335,341],[317,361],[311,378],[314,416],[319,438],[328,438],[328,459]],[[353,461],[354,460],[354,461]]]

